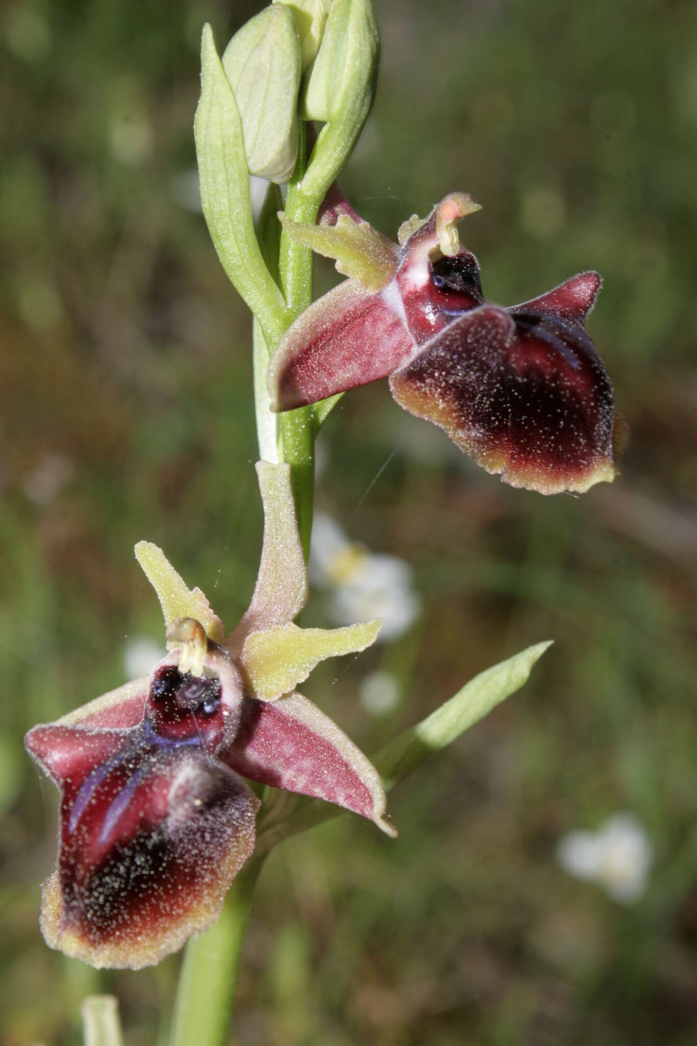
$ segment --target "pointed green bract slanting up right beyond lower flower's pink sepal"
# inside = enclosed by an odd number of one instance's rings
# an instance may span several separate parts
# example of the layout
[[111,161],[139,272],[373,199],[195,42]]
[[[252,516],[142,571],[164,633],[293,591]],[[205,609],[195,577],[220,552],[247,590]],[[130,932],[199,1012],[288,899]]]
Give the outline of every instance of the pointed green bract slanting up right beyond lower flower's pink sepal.
[[373,760],[386,790],[389,791],[426,759],[451,745],[460,734],[488,715],[492,708],[519,690],[528,681],[535,662],[551,645],[551,640],[536,643],[480,673],[431,715],[386,745]]

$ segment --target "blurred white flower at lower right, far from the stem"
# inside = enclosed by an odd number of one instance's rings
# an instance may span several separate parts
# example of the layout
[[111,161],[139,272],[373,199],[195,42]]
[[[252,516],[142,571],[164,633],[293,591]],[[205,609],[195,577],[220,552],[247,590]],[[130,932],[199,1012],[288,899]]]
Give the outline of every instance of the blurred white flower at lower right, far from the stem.
[[598,832],[567,832],[557,844],[564,871],[605,890],[613,901],[633,904],[644,891],[653,864],[653,846],[633,814],[614,814]]

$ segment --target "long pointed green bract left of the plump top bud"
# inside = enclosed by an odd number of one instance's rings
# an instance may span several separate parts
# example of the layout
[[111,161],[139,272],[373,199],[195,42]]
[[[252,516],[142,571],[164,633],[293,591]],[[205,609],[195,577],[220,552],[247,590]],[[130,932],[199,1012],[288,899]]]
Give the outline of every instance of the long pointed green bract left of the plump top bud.
[[193,136],[203,211],[223,268],[275,342],[287,325],[285,302],[254,234],[242,124],[210,25],[204,26],[201,64]]

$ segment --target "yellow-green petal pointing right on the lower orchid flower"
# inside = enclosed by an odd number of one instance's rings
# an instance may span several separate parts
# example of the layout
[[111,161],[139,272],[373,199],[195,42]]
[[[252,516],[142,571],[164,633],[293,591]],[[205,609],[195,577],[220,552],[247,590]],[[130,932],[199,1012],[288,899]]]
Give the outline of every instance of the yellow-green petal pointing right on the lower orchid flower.
[[239,663],[254,696],[271,701],[295,689],[320,661],[370,646],[381,626],[379,620],[345,629],[299,629],[288,623],[253,632],[245,640]]

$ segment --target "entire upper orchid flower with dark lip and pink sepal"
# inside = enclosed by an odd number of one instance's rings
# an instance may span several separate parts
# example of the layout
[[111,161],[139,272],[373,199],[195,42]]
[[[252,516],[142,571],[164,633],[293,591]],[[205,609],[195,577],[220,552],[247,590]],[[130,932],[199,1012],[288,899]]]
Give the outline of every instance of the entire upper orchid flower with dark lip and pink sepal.
[[625,426],[584,321],[601,287],[573,276],[519,305],[488,304],[456,222],[479,210],[454,192],[391,244],[345,202],[319,226],[279,218],[350,278],[307,309],[271,360],[275,410],[390,378],[397,403],[434,422],[487,472],[540,494],[611,482]]

